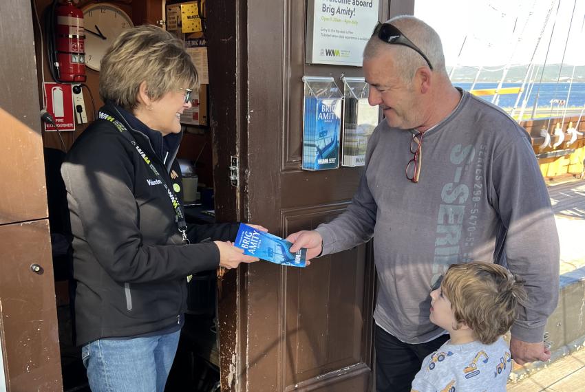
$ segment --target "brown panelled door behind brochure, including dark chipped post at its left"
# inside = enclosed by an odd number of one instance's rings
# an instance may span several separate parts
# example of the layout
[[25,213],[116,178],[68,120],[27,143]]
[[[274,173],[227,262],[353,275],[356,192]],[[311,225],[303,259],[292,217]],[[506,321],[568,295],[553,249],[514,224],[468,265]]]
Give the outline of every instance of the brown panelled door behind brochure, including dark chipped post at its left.
[[[217,217],[282,237],[315,228],[345,210],[361,169],[301,171],[301,77],[333,76],[341,87],[341,76],[363,76],[361,68],[305,64],[306,1],[226,3],[210,2],[208,15]],[[396,10],[380,3],[380,20],[414,9],[414,1]],[[223,391],[372,390],[367,246],[306,269],[241,267],[226,274],[219,294]]]

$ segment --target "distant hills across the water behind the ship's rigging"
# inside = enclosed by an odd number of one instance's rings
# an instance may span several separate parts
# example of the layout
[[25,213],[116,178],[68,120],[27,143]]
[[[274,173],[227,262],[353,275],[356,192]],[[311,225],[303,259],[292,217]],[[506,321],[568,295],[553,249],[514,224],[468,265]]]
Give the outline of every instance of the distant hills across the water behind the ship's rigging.
[[[543,83],[556,83],[559,78],[560,64],[547,64],[544,69],[544,75],[542,76]],[[447,66],[447,73],[451,72],[451,66]],[[522,83],[526,76],[526,69],[528,65],[516,65],[508,69],[506,79],[504,83]],[[478,68],[477,67],[457,67],[453,74],[452,80],[454,82],[461,83],[472,83],[476,78]],[[478,82],[499,82],[504,72],[504,65],[495,67],[483,67]],[[533,79],[538,82],[540,80],[540,74],[542,72],[542,65],[538,69],[538,74],[533,73]],[[563,65],[560,76],[561,82],[568,82],[571,80],[571,74],[573,73],[573,65]],[[585,83],[585,65],[577,65],[575,68],[575,76],[573,83]]]

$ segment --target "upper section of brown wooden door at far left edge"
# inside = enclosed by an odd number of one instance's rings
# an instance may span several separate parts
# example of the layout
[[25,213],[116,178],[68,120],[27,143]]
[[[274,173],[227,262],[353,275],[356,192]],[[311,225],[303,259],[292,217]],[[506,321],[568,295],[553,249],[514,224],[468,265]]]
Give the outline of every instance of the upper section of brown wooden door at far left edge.
[[48,214],[32,42],[30,1],[2,1],[0,178],[5,186],[0,187],[0,224],[42,219]]

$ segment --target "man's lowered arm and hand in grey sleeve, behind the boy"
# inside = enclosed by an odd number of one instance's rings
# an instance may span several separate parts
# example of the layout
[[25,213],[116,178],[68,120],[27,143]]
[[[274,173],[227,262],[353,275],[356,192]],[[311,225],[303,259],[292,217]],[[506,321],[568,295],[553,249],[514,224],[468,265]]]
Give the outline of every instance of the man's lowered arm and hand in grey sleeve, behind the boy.
[[557,306],[560,250],[549,193],[527,138],[494,153],[492,174],[492,205],[507,228],[508,268],[524,280],[527,294],[511,329],[511,353],[519,364],[548,360],[542,340]]

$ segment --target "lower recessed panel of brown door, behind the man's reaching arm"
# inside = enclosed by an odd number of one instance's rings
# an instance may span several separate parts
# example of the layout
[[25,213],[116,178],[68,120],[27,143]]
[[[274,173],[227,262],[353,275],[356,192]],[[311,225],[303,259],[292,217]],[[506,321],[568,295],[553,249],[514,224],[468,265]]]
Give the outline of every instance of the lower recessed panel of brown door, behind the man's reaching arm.
[[[345,206],[283,210],[282,227],[286,232],[314,228],[339,215]],[[370,351],[362,344],[371,328],[372,290],[365,282],[365,270],[371,265],[364,261],[365,246],[359,246],[317,259],[307,269],[284,269],[285,339],[290,340],[284,347],[290,353],[283,358],[287,386],[359,362],[369,363]]]

